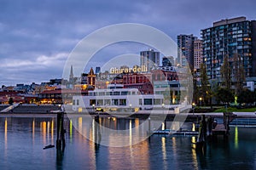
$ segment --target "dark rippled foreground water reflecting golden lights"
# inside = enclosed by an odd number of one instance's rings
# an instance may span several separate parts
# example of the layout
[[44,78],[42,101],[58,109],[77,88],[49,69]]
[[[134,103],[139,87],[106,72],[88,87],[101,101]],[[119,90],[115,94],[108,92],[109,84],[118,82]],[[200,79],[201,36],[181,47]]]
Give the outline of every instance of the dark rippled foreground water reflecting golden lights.
[[[198,152],[193,136],[154,135],[125,147],[95,144],[73,127],[81,119],[65,119],[67,146],[56,154],[55,148],[43,150],[55,144],[55,121],[53,117],[0,117],[0,169],[256,169],[256,127],[231,127],[229,139],[220,136]],[[112,128],[141,121],[101,119]],[[110,142],[117,138],[109,135]]]

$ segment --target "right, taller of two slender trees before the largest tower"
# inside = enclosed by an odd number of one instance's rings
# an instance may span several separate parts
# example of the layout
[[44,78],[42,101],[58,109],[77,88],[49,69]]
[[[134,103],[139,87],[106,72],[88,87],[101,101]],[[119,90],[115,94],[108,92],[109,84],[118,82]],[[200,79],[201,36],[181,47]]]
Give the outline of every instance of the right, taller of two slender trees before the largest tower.
[[242,83],[245,81],[243,61],[239,54],[234,54],[233,76],[235,79],[235,95],[238,96],[243,88]]

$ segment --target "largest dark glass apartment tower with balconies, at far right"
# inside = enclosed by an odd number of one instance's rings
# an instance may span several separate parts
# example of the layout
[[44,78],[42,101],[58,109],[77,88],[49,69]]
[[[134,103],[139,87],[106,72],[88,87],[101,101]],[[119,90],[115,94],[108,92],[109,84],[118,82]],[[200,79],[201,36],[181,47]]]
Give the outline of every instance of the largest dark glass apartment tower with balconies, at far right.
[[[210,79],[219,78],[224,58],[230,67],[234,66],[234,56],[243,62],[245,76],[256,76],[256,21],[238,17],[220,20],[213,26],[201,30],[204,62]],[[232,76],[232,74],[231,74]]]

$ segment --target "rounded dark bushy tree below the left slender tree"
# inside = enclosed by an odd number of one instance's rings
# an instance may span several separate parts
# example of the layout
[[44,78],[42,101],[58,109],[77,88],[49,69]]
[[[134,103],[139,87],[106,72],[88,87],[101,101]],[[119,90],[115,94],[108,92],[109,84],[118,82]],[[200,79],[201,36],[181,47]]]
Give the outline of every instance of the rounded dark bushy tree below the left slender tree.
[[226,103],[227,105],[234,100],[234,94],[228,88],[219,88],[216,97],[218,101]]

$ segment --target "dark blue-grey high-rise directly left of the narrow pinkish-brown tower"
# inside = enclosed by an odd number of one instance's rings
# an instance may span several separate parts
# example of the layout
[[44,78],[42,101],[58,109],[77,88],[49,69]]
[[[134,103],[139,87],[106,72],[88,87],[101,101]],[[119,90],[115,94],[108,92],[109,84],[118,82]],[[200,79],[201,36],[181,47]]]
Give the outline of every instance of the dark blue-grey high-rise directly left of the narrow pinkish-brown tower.
[[177,36],[177,64],[192,68],[194,65],[194,41],[197,37],[193,34]]

